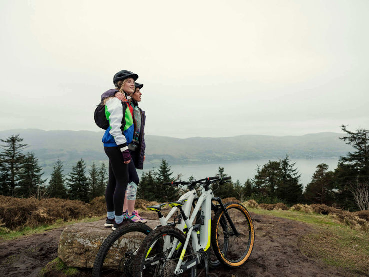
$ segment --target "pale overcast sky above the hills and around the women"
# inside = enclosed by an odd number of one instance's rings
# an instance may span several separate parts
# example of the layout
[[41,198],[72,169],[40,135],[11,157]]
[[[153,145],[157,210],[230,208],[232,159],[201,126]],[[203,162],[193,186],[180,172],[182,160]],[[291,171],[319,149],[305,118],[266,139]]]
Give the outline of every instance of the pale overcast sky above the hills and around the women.
[[369,1],[1,1],[0,130],[99,131],[113,75],[145,133],[369,128]]

